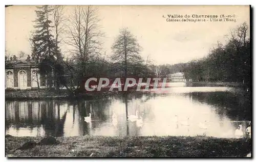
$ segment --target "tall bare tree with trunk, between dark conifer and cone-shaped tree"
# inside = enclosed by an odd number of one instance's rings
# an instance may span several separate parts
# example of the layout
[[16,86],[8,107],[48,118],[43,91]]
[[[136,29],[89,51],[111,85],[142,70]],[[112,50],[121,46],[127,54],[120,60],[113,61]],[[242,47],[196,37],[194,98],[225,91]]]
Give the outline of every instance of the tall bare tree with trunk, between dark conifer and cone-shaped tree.
[[[92,6],[77,6],[70,15],[66,43],[72,47],[69,50],[70,55],[73,56],[79,67],[73,74],[78,73],[83,77],[89,75],[90,64],[100,59],[103,33],[100,31],[100,20],[97,14],[98,10]],[[82,80],[78,79],[80,88],[82,88],[81,82]]]

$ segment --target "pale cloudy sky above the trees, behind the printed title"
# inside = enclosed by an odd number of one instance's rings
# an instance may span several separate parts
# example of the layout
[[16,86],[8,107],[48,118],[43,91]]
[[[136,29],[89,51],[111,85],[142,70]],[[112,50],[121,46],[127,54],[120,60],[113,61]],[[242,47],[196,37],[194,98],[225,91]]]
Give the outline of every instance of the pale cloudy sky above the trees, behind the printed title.
[[[65,16],[75,6],[65,6]],[[119,29],[127,27],[137,37],[143,50],[155,64],[176,64],[203,58],[217,41],[225,44],[225,35],[237,25],[249,24],[249,6],[94,6],[104,37],[104,50],[111,55],[111,45]],[[24,51],[30,55],[28,38],[36,18],[35,6],[6,8],[6,50],[12,55]],[[236,22],[167,22],[167,15],[236,15]],[[165,18],[164,18],[164,17]],[[63,51],[66,45],[61,46]],[[65,53],[69,56],[68,53]]]

